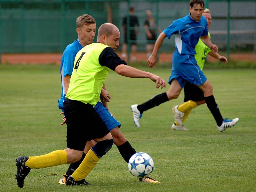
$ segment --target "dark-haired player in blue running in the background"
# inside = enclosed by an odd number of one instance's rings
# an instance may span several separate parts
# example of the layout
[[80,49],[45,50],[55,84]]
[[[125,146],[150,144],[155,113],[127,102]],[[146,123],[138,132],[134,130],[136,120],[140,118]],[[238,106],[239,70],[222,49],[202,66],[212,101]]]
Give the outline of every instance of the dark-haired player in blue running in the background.
[[167,92],[158,94],[141,105],[131,106],[133,120],[137,127],[140,127],[140,116],[144,111],[168,100],[178,98],[186,82],[197,85],[204,92],[204,100],[217,123],[219,131],[222,132],[238,122],[238,118],[233,120],[222,118],[219,107],[213,97],[212,84],[207,80],[204,73],[197,65],[195,59],[195,45],[198,43],[199,38],[214,52],[218,52],[218,47],[212,44],[208,36],[207,20],[202,17],[204,1],[191,0],[189,5],[190,13],[183,18],[173,21],[169,27],[164,29],[158,36],[154,50],[148,58],[148,66],[155,67],[156,55],[164,38],[168,37],[170,39],[171,36],[175,34],[176,51],[173,53],[172,73],[169,78],[169,84],[171,84],[171,86]]

